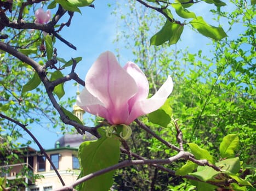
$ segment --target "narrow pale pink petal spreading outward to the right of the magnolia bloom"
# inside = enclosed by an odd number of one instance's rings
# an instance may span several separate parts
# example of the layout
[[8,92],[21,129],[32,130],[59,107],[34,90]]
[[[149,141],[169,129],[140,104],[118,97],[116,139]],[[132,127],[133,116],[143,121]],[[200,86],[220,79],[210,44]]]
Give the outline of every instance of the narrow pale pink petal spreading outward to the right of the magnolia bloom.
[[170,76],[168,76],[166,82],[158,89],[156,94],[149,99],[140,100],[138,103],[135,103],[132,112],[130,113],[129,120],[127,124],[132,123],[135,118],[149,114],[159,108],[166,102],[168,96],[173,91],[173,81]]

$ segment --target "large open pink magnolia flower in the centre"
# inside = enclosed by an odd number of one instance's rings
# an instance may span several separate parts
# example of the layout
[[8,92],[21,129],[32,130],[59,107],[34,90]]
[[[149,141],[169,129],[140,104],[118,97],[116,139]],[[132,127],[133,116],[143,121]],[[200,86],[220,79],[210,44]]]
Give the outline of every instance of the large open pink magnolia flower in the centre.
[[127,62],[122,68],[115,55],[107,51],[89,69],[77,105],[110,124],[130,124],[137,117],[159,109],[172,89],[169,76],[156,94],[147,99],[149,82],[138,65]]

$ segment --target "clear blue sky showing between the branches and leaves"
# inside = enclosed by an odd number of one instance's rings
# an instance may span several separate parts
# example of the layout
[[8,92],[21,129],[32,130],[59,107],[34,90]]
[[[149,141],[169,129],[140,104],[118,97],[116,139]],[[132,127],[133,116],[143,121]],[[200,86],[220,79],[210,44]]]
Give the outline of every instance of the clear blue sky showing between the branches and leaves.
[[[71,26],[64,27],[60,32],[60,35],[66,40],[70,41],[73,45],[77,47],[77,50],[70,49],[59,40],[56,40],[55,47],[58,50],[58,57],[64,58],[67,61],[72,58],[82,56],[83,59],[78,63],[76,71],[78,75],[84,79],[87,70],[100,55],[101,52],[110,50],[115,53],[116,44],[113,44],[113,40],[116,37],[117,32],[117,18],[115,15],[111,14],[113,6],[109,7],[107,4],[115,4],[115,1],[95,1],[95,9],[90,7],[81,8],[82,15],[75,13],[73,16]],[[213,5],[206,4],[204,2],[198,3],[194,7],[195,13],[197,16],[203,16],[203,18],[213,26],[217,26],[218,23],[211,19],[211,14],[209,14],[209,9],[213,8]],[[226,6],[224,9],[230,10],[234,7]],[[46,10],[46,8],[44,8]],[[66,22],[67,17],[61,19],[61,22]],[[225,23],[225,20],[223,20]],[[224,30],[225,25],[223,26]],[[122,30],[122,28],[120,29]],[[241,29],[240,29],[241,30]],[[228,34],[236,35],[236,34]],[[189,51],[196,53],[198,50],[202,49],[204,55],[209,54],[209,46],[207,44],[211,43],[211,40],[203,37],[201,34],[192,31],[190,27],[186,26],[184,32],[181,35],[181,41],[177,44],[177,50],[185,49],[189,47]],[[125,50],[121,47],[121,63],[122,65],[127,61],[132,61],[133,56],[129,50]],[[175,49],[175,46],[171,46],[170,49]],[[69,74],[70,69],[65,71],[65,74]],[[72,97],[76,95],[77,87],[73,87],[73,82],[68,82],[65,84],[66,95],[62,99],[67,99],[67,97]],[[82,90],[82,87],[80,88]],[[88,115],[84,116],[87,117]],[[61,137],[61,134],[54,133],[54,129],[41,128],[32,128],[31,132],[35,134],[36,138],[41,142],[42,146],[45,149],[50,149],[54,147],[54,143],[57,139]],[[31,138],[24,134],[24,139],[31,140]],[[32,144],[31,147],[36,148],[35,144]]]

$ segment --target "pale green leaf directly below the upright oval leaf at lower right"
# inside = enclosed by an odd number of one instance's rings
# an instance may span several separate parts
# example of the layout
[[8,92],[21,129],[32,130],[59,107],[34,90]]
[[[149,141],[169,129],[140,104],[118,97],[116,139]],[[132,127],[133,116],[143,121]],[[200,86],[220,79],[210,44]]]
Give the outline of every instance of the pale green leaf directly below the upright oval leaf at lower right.
[[236,174],[240,170],[240,161],[238,157],[221,160],[221,162],[218,162],[215,165],[218,166],[221,171],[224,171],[224,173],[226,171]]

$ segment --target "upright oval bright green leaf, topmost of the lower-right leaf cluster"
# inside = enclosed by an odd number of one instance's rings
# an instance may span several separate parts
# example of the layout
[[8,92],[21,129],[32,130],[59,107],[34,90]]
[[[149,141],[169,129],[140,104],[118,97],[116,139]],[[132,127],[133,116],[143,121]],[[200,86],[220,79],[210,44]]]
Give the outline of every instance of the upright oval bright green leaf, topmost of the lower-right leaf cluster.
[[222,142],[220,143],[220,156],[222,158],[235,157],[235,150],[238,148],[238,146],[238,134],[229,134],[224,136]]

